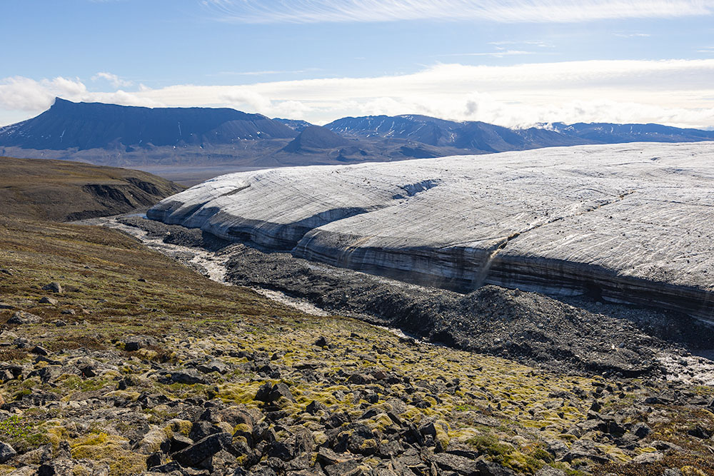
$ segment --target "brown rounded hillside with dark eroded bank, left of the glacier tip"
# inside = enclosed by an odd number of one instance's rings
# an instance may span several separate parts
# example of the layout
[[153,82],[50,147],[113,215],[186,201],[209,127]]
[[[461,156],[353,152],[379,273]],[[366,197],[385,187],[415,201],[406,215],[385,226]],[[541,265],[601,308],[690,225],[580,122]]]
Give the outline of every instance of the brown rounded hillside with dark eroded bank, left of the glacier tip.
[[151,173],[0,157],[3,216],[71,221],[153,205],[183,188]]

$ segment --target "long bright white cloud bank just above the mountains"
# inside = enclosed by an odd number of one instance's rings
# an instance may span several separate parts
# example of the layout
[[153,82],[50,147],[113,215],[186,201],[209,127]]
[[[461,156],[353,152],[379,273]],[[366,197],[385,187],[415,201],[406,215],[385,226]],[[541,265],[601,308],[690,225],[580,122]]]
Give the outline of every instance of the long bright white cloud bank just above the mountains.
[[236,86],[140,86],[91,92],[79,79],[0,80],[2,110],[26,117],[54,96],[128,106],[232,107],[326,123],[343,116],[419,113],[501,126],[562,121],[714,126],[714,59],[570,61],[516,66],[437,64],[413,74]]

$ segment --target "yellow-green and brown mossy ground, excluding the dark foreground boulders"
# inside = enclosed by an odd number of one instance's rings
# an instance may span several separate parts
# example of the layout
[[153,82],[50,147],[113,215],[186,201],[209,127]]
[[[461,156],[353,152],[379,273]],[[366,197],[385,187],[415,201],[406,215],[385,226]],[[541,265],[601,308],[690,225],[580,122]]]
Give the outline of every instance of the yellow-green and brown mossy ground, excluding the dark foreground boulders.
[[[91,378],[61,375],[49,384],[33,377],[0,385],[0,397],[5,402],[51,392],[67,404],[49,410],[28,408],[0,422],[0,440],[21,452],[47,443],[57,450],[59,442],[67,440],[73,457],[106,462],[112,474],[132,474],[144,469],[145,456],[139,455],[117,430],[122,428],[121,422],[87,414],[86,425],[76,425],[70,417],[81,412],[81,402],[110,396],[131,403],[148,392],[171,400],[215,397],[262,407],[254,400],[258,388],[266,381],[282,381],[296,397],[295,402],[280,402],[288,415],[286,421],[300,421],[313,430],[316,442],[324,433],[319,419],[313,417],[311,425],[311,417],[306,415],[306,407],[313,400],[339,407],[354,418],[366,407],[374,407],[379,411],[370,425],[376,429],[391,425],[387,412],[398,412],[401,419],[415,424],[435,420],[436,438],[443,447],[470,447],[526,474],[543,465],[562,467],[570,474],[587,470],[655,475],[666,465],[681,468],[685,474],[713,474],[708,443],[687,433],[693,421],[714,427],[714,415],[707,410],[663,407],[666,417],[661,424],[653,425],[648,439],[674,442],[683,452],[669,455],[657,466],[640,466],[639,473],[630,472],[631,455],[607,445],[603,445],[603,452],[615,455],[608,465],[555,462],[545,442],[572,445],[575,436],[568,430],[585,420],[593,400],[605,407],[628,405],[638,397],[635,389],[645,386],[625,383],[617,392],[596,394],[598,387],[610,383],[408,342],[388,330],[350,318],[303,315],[251,290],[213,283],[115,231],[0,218],[0,268],[9,272],[0,273],[2,300],[44,320],[11,326],[12,332],[51,350],[52,360],[69,359],[73,350],[84,348],[101,351],[107,361],[119,358],[121,362],[117,370]],[[48,295],[42,285],[51,281],[64,286],[64,293],[53,296],[59,303],[39,304],[40,298]],[[13,313],[1,310],[0,324]],[[67,325],[57,327],[57,320]],[[127,335],[154,336],[159,344],[127,352],[122,346]],[[320,337],[329,345],[315,345]],[[237,351],[265,353],[271,365],[281,369],[280,377],[266,378],[246,370],[242,366],[246,357],[238,356]],[[144,376],[157,363],[180,367],[187,360],[216,355],[233,370],[211,375],[210,384],[160,383]],[[35,355],[26,350],[3,348],[0,357],[7,363],[35,368],[47,365],[36,362]],[[326,378],[306,378],[306,368],[318,370]],[[354,395],[371,392],[373,382],[355,383],[348,376],[378,375],[379,371],[402,377],[381,395],[406,395],[408,386],[408,397],[401,403],[382,396],[369,403],[356,399]],[[127,377],[134,380],[131,388],[117,390],[119,380]],[[698,393],[708,394],[710,389],[700,388]],[[72,402],[76,405],[69,405]],[[174,420],[166,426],[176,417],[166,405],[155,405],[144,412],[151,424],[171,432],[190,430],[190,422],[181,426]],[[10,470],[0,467],[0,474]]]

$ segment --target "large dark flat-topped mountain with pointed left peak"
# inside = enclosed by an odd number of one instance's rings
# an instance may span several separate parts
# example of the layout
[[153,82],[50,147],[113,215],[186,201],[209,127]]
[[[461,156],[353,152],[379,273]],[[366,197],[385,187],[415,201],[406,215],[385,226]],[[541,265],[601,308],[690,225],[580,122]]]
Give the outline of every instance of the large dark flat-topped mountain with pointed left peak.
[[0,143],[32,149],[218,145],[297,133],[261,114],[230,108],[144,108],[56,98],[39,116],[0,129]]

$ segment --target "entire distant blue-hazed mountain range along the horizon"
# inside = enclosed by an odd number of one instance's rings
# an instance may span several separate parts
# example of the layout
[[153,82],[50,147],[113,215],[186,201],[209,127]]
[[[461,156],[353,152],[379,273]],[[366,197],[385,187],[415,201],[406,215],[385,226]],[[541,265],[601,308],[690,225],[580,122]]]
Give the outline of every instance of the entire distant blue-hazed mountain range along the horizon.
[[714,141],[714,131],[613,123],[511,129],[418,115],[346,117],[315,126],[231,108],[145,108],[56,98],[39,116],[0,128],[0,155],[239,170],[641,141]]

